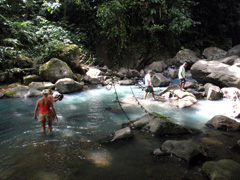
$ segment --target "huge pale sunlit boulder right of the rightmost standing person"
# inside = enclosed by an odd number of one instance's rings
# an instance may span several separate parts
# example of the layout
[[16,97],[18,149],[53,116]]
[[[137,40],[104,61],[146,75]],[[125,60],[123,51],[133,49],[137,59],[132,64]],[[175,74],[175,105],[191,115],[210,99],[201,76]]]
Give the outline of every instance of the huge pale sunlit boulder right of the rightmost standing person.
[[240,66],[217,61],[199,60],[191,67],[192,77],[199,83],[212,83],[220,87],[240,88]]

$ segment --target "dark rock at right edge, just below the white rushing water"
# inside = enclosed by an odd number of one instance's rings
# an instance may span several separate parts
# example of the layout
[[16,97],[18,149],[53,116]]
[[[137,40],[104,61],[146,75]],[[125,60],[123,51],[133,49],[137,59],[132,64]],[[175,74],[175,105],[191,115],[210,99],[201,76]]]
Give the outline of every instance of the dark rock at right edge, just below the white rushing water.
[[210,119],[206,126],[218,130],[239,131],[240,123],[227,116],[217,115]]

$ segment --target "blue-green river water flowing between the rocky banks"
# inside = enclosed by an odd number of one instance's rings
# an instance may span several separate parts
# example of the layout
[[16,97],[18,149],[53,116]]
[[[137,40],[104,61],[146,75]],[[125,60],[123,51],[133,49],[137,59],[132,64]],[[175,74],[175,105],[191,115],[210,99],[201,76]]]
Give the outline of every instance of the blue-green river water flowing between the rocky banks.
[[[132,89],[148,111],[198,129],[204,129],[209,119],[226,113],[234,104],[200,100],[191,108],[178,109],[168,102],[153,101],[151,95],[143,100],[145,92],[134,86]],[[133,97],[129,86],[116,86],[116,90],[120,100]],[[113,88],[96,88],[65,95],[54,103],[59,122],[54,122],[53,133],[46,135],[33,118],[37,98],[1,99],[0,179],[205,179],[199,168],[189,170],[177,158],[154,159],[150,153],[163,140],[147,133],[136,132],[132,140],[109,145],[100,143],[127,121],[114,92]],[[131,103],[122,103],[122,107],[131,119],[145,114]]]

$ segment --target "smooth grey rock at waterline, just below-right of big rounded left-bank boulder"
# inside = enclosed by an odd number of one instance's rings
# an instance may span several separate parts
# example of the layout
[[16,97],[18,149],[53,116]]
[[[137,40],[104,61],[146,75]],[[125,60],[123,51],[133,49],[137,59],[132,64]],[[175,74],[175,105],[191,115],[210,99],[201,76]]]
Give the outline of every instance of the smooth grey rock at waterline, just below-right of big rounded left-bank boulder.
[[62,94],[81,91],[84,83],[79,83],[70,78],[59,79],[55,83],[56,90]]

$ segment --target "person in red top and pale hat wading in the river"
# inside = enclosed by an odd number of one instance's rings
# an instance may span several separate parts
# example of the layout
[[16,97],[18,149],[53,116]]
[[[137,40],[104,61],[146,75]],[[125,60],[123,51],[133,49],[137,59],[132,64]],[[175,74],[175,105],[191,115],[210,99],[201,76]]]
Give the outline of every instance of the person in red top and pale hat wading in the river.
[[35,110],[34,110],[34,119],[37,120],[37,111],[38,108],[40,108],[39,111],[39,121],[41,122],[42,126],[42,133],[45,134],[45,125],[46,122],[48,123],[48,132],[52,132],[52,121],[56,117],[56,120],[58,121],[58,117],[56,114],[56,111],[53,107],[53,102],[49,100],[49,90],[44,89],[42,91],[43,97],[38,99]]

